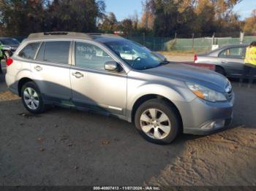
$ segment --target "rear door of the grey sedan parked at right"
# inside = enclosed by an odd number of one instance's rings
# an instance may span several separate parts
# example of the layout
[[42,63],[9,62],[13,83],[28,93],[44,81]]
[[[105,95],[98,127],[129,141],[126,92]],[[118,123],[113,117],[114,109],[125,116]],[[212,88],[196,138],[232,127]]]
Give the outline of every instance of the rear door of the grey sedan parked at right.
[[219,53],[218,62],[230,76],[239,76],[243,73],[246,47],[229,47]]

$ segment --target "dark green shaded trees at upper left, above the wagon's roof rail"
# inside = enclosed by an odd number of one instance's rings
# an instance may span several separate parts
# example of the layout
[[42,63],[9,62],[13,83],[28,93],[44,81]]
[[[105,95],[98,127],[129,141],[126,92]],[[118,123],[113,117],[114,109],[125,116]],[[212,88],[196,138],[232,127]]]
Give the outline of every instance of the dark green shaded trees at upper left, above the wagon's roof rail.
[[96,0],[0,0],[1,31],[26,36],[39,31],[97,31],[105,12]]

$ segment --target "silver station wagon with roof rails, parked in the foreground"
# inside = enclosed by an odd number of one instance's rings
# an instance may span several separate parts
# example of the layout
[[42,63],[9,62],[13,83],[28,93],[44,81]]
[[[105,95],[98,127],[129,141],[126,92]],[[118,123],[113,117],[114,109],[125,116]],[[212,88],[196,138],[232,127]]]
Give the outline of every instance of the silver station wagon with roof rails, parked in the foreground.
[[233,117],[227,78],[108,34],[31,34],[7,60],[6,82],[31,113],[59,105],[113,115],[156,144],[225,129]]

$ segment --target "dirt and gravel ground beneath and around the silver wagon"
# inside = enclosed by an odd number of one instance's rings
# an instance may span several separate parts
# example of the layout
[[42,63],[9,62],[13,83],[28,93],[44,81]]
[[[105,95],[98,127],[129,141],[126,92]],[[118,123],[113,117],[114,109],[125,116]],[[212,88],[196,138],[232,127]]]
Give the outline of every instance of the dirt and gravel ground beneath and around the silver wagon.
[[58,107],[29,114],[1,75],[0,186],[256,186],[255,86],[233,82],[230,129],[159,146],[116,118]]

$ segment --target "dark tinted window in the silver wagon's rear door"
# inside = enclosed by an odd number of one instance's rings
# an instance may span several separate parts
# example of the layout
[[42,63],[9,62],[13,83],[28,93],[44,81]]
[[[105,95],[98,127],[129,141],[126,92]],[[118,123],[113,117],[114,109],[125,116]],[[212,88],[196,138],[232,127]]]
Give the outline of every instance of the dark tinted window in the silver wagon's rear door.
[[44,42],[38,52],[37,61],[69,63],[69,41]]

